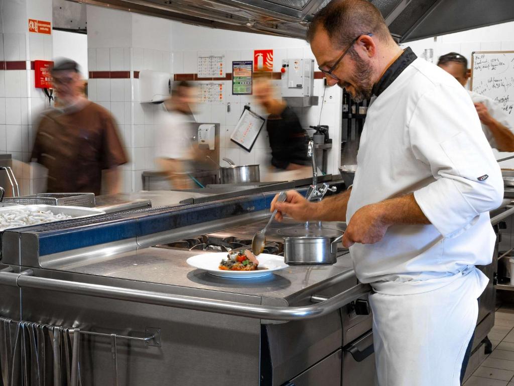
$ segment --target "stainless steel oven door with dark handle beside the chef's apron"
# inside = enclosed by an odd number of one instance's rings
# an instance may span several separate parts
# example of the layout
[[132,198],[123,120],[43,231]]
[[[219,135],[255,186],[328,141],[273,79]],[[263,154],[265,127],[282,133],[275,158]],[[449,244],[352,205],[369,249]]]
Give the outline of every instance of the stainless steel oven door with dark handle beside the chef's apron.
[[373,332],[343,348],[342,386],[374,386],[375,351]]

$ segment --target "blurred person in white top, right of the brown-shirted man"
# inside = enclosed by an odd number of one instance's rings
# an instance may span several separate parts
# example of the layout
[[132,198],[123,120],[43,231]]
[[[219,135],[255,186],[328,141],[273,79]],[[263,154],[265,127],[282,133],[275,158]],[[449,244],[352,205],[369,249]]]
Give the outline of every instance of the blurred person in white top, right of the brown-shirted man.
[[171,96],[164,101],[155,130],[155,164],[164,173],[173,188],[193,187],[189,177],[194,149],[191,142],[191,106],[196,102],[196,89],[186,81],[175,84]]

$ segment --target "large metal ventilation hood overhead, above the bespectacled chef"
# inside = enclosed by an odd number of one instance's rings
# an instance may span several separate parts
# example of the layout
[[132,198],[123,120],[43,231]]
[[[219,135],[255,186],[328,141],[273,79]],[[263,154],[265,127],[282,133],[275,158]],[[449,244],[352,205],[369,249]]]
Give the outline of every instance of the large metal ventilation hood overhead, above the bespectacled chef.
[[[188,24],[300,39],[305,37],[314,14],[330,1],[76,0]],[[400,43],[514,20],[512,0],[372,0],[371,3],[382,12]]]

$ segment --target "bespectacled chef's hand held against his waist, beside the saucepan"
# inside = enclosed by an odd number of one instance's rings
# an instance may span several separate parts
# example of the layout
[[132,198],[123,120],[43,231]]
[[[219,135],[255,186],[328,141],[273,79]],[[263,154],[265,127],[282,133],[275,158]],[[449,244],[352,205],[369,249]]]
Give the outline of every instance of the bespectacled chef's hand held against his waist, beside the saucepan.
[[361,207],[350,219],[343,235],[343,245],[348,248],[356,242],[374,244],[380,241],[389,227],[381,219],[380,204]]

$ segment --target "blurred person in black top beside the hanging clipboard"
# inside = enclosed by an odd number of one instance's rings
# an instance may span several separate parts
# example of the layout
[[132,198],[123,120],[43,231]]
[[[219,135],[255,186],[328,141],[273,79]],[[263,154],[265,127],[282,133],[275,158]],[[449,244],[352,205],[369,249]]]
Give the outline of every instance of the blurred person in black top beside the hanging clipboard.
[[[266,130],[271,147],[272,173],[267,179],[296,180],[312,175],[307,156],[309,137],[297,114],[275,95],[271,74],[253,74],[253,97],[268,114]],[[266,177],[265,177],[266,179]]]

